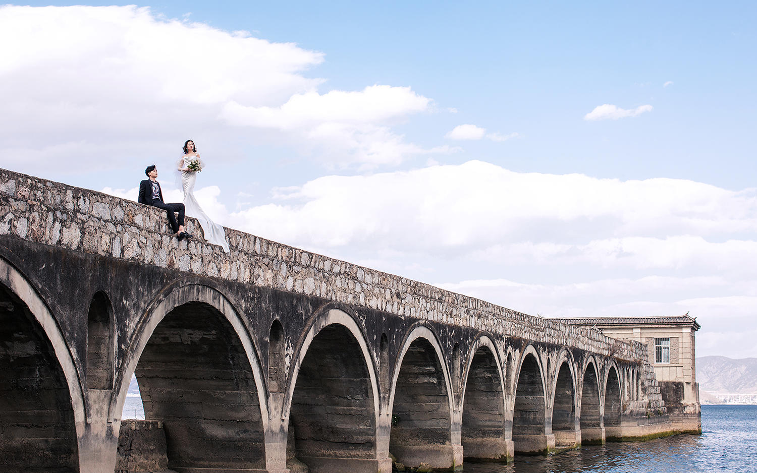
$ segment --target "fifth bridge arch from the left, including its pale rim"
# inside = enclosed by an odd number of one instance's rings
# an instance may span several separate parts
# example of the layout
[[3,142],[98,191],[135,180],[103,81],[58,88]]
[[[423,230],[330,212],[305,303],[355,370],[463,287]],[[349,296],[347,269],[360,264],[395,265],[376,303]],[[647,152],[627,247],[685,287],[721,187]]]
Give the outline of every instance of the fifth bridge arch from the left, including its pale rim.
[[508,459],[504,386],[497,347],[482,335],[471,345],[463,378],[460,443],[466,459]]

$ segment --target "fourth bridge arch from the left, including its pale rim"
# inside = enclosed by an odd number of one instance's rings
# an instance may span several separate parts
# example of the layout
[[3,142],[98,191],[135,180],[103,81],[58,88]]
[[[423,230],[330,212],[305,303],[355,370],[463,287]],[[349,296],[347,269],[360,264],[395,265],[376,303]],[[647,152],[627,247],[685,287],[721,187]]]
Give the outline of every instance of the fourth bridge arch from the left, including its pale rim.
[[404,338],[391,381],[389,451],[413,468],[450,468],[452,380],[436,335],[418,325]]

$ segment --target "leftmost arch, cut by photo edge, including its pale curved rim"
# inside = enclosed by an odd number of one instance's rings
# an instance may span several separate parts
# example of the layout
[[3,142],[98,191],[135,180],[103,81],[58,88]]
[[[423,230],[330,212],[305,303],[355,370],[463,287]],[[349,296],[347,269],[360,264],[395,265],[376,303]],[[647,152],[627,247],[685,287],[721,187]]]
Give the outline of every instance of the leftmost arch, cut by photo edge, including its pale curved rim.
[[83,386],[61,328],[29,280],[0,258],[0,431],[14,439],[0,442],[0,465],[78,472],[84,428]]

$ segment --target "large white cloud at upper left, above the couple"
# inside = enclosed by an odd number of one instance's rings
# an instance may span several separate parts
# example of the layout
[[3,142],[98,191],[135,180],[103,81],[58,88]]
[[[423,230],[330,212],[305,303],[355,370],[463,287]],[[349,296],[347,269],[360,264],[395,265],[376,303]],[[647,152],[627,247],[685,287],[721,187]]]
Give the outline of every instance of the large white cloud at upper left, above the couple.
[[13,45],[0,48],[0,140],[17,170],[67,170],[72,161],[117,169],[134,156],[174,154],[176,137],[193,131],[205,144],[245,136],[338,166],[453,151],[391,129],[431,111],[431,99],[410,88],[320,93],[324,81],[306,74],[321,52],[149,8],[7,5],[0,44]]

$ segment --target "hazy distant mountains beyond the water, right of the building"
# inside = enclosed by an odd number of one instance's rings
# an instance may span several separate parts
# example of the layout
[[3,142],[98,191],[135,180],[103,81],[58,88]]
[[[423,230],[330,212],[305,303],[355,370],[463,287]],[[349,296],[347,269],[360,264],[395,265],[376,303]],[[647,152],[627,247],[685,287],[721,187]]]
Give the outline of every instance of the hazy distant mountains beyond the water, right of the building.
[[702,404],[757,402],[757,358],[696,359],[696,381]]

